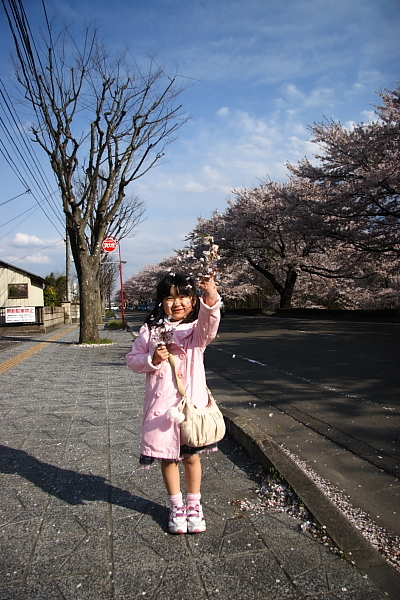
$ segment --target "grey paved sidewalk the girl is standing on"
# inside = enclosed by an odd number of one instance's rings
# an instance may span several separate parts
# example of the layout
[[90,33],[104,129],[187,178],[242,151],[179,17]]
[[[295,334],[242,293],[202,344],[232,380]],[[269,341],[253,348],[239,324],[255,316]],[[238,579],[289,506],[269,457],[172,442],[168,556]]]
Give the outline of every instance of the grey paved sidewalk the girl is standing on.
[[79,347],[65,327],[0,353],[0,600],[382,598],[295,519],[235,506],[258,484],[230,438],[202,459],[207,531],[169,535],[159,469],[138,468],[132,336],[107,337]]

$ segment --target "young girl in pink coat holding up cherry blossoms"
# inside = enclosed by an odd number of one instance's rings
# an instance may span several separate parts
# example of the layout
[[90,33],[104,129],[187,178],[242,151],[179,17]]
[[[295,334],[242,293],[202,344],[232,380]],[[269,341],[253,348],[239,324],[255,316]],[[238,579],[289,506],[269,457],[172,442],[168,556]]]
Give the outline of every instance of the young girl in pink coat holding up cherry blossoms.
[[[161,472],[171,504],[170,533],[205,531],[200,504],[201,463],[199,454],[216,450],[216,444],[202,448],[181,446],[179,424],[169,409],[181,401],[176,375],[168,361],[174,356],[176,374],[188,398],[199,408],[208,404],[203,355],[217,334],[220,297],[213,277],[203,278],[199,298],[192,279],[167,275],[157,286],[157,301],[139,337],[127,354],[127,365],[135,373],[146,373],[146,390],[140,446],[140,463],[150,465],[161,459]],[[187,503],[182,500],[179,460],[183,460]]]

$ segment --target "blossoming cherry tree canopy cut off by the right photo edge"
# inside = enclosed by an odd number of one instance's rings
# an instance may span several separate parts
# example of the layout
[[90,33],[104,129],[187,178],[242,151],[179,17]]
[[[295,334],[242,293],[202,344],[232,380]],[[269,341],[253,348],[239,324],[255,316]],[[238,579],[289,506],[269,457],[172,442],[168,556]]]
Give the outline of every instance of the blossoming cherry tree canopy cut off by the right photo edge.
[[[328,121],[311,127],[322,153],[288,168],[308,210],[321,217],[322,234],[386,268],[400,257],[400,88],[380,93],[377,119],[347,129]],[[314,188],[310,194],[310,188]],[[303,188],[303,189],[302,189]],[[391,263],[391,265],[389,264]]]

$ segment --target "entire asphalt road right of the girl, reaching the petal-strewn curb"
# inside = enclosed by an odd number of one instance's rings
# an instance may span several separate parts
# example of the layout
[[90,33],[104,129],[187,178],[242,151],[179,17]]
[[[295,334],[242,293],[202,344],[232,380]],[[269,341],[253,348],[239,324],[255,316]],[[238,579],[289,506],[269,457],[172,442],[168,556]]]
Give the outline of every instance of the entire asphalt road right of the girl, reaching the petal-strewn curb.
[[400,324],[227,315],[205,363],[222,406],[400,536],[399,350]]

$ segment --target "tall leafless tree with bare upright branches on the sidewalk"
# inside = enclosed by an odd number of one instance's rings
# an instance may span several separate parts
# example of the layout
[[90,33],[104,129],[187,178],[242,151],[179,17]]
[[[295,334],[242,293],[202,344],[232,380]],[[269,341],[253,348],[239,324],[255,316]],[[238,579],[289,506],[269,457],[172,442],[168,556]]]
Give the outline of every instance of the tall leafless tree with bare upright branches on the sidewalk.
[[77,40],[68,26],[47,21],[38,41],[22,4],[2,1],[31,131],[61,193],[80,288],[80,342],[98,341],[102,240],[111,232],[121,238],[141,216],[143,207],[124,199],[187,120],[176,102],[185,85],[154,56],[141,67],[128,49],[112,53],[93,27]]

